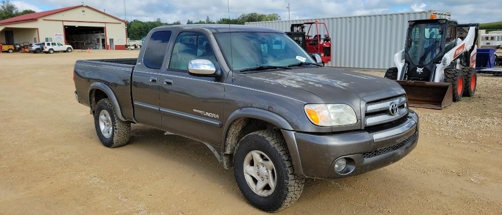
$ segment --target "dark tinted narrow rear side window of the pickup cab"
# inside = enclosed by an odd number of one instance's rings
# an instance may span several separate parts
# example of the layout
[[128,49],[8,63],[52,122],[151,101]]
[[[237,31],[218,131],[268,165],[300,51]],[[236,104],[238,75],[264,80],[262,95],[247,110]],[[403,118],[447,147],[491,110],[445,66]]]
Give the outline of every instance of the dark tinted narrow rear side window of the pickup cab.
[[169,38],[171,38],[171,31],[160,31],[152,34],[143,55],[143,64],[146,67],[151,69],[160,69],[162,67]]

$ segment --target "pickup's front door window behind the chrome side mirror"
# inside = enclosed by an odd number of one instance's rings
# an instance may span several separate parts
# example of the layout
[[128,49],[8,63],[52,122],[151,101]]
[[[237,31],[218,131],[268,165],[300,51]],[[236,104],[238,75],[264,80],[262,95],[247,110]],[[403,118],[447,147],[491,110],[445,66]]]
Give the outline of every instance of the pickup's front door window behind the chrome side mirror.
[[216,64],[216,57],[209,40],[200,33],[179,34],[174,44],[169,69],[188,71],[188,63],[194,59],[205,59]]

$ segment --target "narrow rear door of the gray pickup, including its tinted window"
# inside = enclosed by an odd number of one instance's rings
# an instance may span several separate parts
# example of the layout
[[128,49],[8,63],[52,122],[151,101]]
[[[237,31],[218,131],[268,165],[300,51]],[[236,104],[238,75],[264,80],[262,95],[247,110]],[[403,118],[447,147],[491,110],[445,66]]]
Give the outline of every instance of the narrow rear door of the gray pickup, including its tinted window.
[[159,129],[162,129],[162,116],[159,110],[159,84],[161,83],[161,69],[170,37],[170,31],[158,31],[152,34],[145,48],[143,59],[138,58],[132,79],[136,121]]

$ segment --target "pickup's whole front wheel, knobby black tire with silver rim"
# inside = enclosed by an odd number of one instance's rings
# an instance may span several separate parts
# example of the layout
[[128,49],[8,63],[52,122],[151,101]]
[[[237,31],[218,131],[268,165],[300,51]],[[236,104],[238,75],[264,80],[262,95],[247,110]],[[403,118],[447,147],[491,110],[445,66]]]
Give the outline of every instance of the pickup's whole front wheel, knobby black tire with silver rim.
[[244,136],[234,153],[233,170],[247,202],[267,212],[282,210],[298,200],[305,183],[304,177],[294,173],[279,131],[261,130]]

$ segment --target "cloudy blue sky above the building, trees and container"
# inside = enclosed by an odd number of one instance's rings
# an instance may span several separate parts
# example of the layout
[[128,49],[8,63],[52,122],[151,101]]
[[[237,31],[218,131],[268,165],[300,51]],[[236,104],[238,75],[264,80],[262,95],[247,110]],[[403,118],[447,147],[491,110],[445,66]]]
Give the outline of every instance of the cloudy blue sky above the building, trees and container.
[[[283,20],[288,19],[286,9],[291,7],[291,19],[341,17],[352,15],[387,14],[399,12],[437,10],[451,12],[452,19],[459,23],[487,23],[502,21],[502,7],[496,1],[486,0],[316,0],[307,2],[300,0],[270,1],[235,1],[230,0],[230,16],[233,18],[242,13],[258,12],[263,14],[277,13]],[[81,0],[23,0],[11,1],[20,9],[46,11],[68,6],[81,5]],[[488,4],[491,2],[490,4]],[[123,0],[84,1],[88,6],[124,18]],[[485,6],[494,7],[485,7]],[[212,20],[228,17],[227,0],[206,1],[173,1],[173,0],[126,0],[128,20],[138,19],[153,21],[160,18],[163,22],[204,20],[209,16]]]

